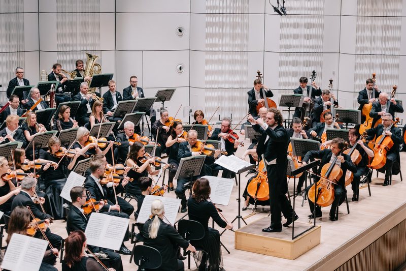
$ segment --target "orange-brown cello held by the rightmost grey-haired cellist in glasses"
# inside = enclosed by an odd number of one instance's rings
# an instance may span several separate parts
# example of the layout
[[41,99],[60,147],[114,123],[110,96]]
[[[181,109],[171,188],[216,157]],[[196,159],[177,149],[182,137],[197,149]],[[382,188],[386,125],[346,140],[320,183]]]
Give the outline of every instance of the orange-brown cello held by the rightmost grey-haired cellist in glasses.
[[[387,129],[390,131],[394,125],[399,122],[399,118],[396,118],[396,121],[393,122]],[[372,169],[380,169],[386,164],[386,153],[390,150],[393,146],[393,140],[390,136],[385,134],[380,135],[377,140],[375,140],[374,146],[374,159],[372,160],[371,164],[368,167]]]

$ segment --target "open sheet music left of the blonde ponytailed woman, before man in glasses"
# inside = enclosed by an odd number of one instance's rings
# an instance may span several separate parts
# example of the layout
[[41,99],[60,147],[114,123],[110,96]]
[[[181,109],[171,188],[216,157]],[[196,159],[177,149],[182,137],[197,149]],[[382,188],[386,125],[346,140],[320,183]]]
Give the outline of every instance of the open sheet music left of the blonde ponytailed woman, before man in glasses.
[[87,245],[120,250],[129,221],[128,218],[92,213],[85,230]]

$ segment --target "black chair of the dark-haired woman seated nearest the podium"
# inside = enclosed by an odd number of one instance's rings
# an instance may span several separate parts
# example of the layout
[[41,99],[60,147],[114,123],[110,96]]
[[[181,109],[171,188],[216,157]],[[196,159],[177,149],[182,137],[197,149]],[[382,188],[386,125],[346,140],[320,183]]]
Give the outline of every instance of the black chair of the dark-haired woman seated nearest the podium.
[[[178,222],[178,232],[186,240],[200,240],[205,237],[205,228],[201,225],[200,222],[194,220],[181,219]],[[202,254],[205,254],[206,257],[206,266],[205,270],[209,270],[209,253],[204,251],[202,248],[195,247],[196,251],[200,251]],[[190,251],[186,252],[186,249],[183,250],[183,255],[188,256],[187,258],[187,268],[190,269]]]

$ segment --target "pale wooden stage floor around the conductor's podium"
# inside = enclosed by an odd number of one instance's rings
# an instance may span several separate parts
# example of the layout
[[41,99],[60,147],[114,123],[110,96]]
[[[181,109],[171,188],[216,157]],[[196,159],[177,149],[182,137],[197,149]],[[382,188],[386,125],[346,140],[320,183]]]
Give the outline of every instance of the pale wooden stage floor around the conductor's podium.
[[[246,146],[240,147],[236,156],[241,156],[245,149],[249,146],[249,141],[245,141]],[[400,153],[402,161],[402,173],[406,177],[404,163],[406,158],[406,153]],[[166,161],[166,159],[164,160]],[[248,161],[248,157],[247,157]],[[166,174],[167,175],[167,174]],[[245,174],[241,176],[241,188],[245,188],[248,177]],[[359,201],[351,202],[352,190],[351,187],[347,187],[347,195],[349,198],[350,214],[347,214],[347,209],[345,203],[340,206],[340,218],[338,221],[331,222],[328,219],[328,212],[330,207],[325,207],[322,209],[323,217],[316,220],[317,225],[321,225],[321,243],[315,248],[307,253],[299,256],[295,260],[287,260],[282,258],[276,258],[272,256],[265,256],[262,254],[250,253],[246,251],[240,251],[234,249],[234,233],[227,230],[221,236],[222,243],[230,251],[230,254],[222,249],[223,259],[224,259],[224,269],[229,270],[304,270],[311,267],[318,261],[323,261],[334,250],[345,246],[345,244],[353,239],[357,238],[357,235],[367,230],[377,221],[383,219],[385,216],[398,209],[402,204],[406,203],[406,180],[400,182],[400,175],[393,176],[392,185],[383,187],[383,174],[380,173],[379,177],[376,177],[374,171],[373,183],[371,184],[371,197],[368,196],[368,189],[366,185],[364,188],[360,189]],[[238,213],[238,203],[235,200],[238,197],[238,187],[234,186],[232,194],[230,197],[230,202],[228,206],[219,206],[223,210],[223,215],[228,221],[232,221]],[[293,192],[293,180],[289,183],[289,191]],[[242,192],[241,192],[242,193]],[[175,193],[165,193],[165,197],[175,197]],[[296,198],[295,211],[299,216],[298,222],[308,223],[309,219],[307,216],[310,214],[309,206],[307,201],[304,201],[304,205],[301,206],[301,197]],[[131,203],[136,206],[135,201]],[[243,204],[243,202],[242,202]],[[264,208],[268,210],[268,208]],[[250,208],[244,212],[241,212],[243,217],[250,214]],[[262,217],[266,217],[268,213],[259,213],[246,219],[247,223],[258,220]],[[181,214],[178,215],[179,218]],[[134,222],[134,217],[132,216],[130,223]],[[405,219],[405,218],[402,218]],[[283,219],[283,223],[285,220]],[[211,222],[210,222],[211,224]],[[238,227],[238,223],[234,222],[234,228]],[[242,225],[244,223],[242,222]],[[310,224],[309,224],[310,226]],[[56,221],[51,224],[51,230],[54,233],[60,234],[62,237],[66,237],[65,222]],[[219,228],[216,226],[216,228]],[[277,236],[279,233],[269,233]],[[379,236],[377,236],[379,237]],[[5,238],[4,238],[5,239]],[[366,244],[368,245],[368,244]],[[366,246],[365,245],[365,246]],[[126,246],[132,249],[132,245],[127,242]],[[324,259],[323,259],[324,258]],[[124,270],[134,270],[136,265],[134,262],[129,263],[129,256],[122,256]],[[187,268],[187,260],[185,260],[185,267]],[[60,264],[56,266],[59,270],[61,269]],[[333,268],[333,267],[331,267]],[[191,270],[196,270],[196,265],[193,260],[191,263]],[[326,269],[324,269],[326,270]]]

